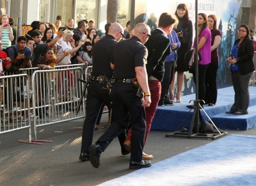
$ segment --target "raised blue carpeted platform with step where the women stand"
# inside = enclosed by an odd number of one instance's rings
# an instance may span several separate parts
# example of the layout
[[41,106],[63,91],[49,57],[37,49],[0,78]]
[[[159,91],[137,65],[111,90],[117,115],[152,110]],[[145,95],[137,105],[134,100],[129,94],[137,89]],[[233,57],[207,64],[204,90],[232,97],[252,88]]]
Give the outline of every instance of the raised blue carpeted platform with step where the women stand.
[[[226,114],[234,103],[234,89],[233,87],[218,89],[218,98],[215,106],[210,107],[204,105],[204,110],[210,116],[211,120],[220,129],[237,129],[247,130],[256,127],[256,87],[249,87],[250,92],[250,106],[247,115]],[[182,96],[182,103],[174,103],[173,106],[158,107],[154,120],[152,122],[151,130],[167,130],[174,131],[180,122],[184,119],[190,109],[186,105],[191,99],[195,99],[195,94]],[[208,121],[205,114],[201,111],[204,118]],[[184,119],[184,122],[178,127],[190,126],[193,109]]]

